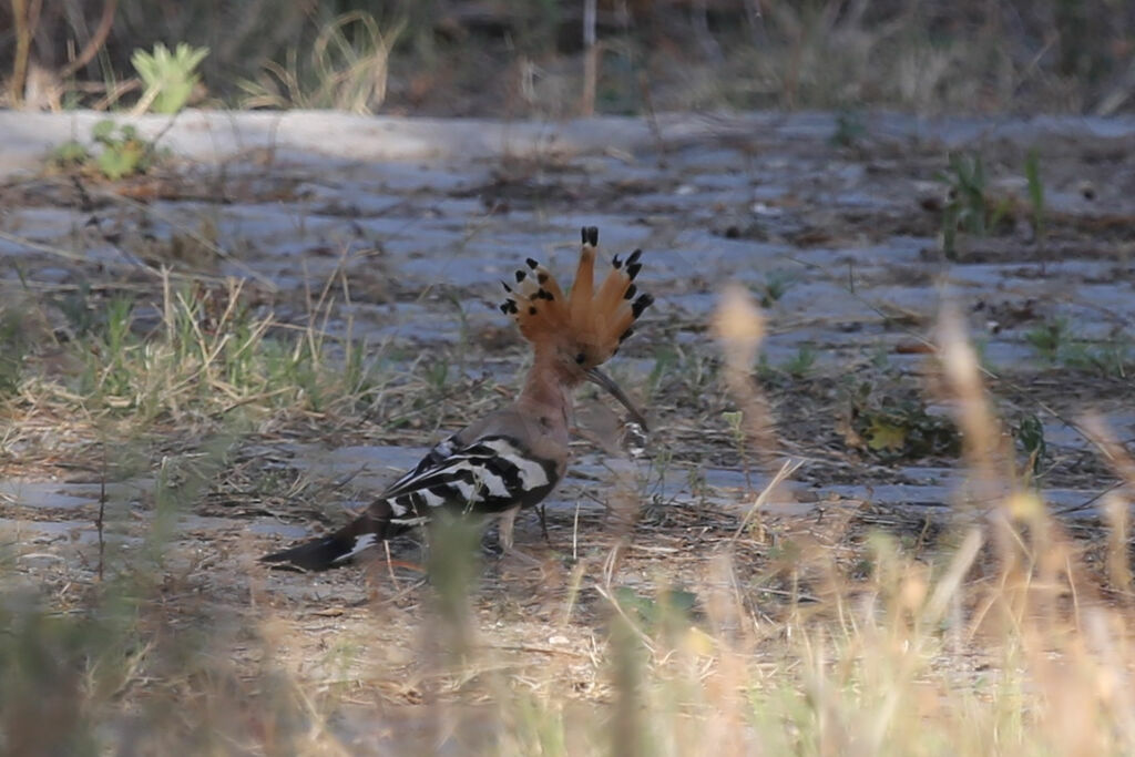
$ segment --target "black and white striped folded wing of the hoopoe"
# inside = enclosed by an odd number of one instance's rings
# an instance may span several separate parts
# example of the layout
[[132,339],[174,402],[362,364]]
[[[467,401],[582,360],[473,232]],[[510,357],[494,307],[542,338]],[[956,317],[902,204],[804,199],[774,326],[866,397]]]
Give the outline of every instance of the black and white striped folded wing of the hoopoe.
[[530,506],[547,496],[560,478],[554,461],[532,456],[511,437],[481,437],[435,457],[445,444],[382,494],[394,511],[392,523],[417,524],[443,506],[476,513]]

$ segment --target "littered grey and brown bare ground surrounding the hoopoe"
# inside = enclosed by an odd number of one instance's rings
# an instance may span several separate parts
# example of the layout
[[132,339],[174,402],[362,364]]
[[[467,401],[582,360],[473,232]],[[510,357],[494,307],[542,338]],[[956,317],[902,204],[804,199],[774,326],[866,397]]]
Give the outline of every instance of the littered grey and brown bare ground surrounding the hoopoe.
[[[507,401],[524,355],[495,308],[497,281],[528,256],[569,276],[582,225],[599,227],[607,253],[644,250],[639,283],[656,304],[611,369],[653,428],[631,455],[609,403],[580,393],[590,432],[547,505],[547,536],[536,514],[518,523],[538,565],[501,556],[491,532],[474,549],[464,622],[484,670],[603,701],[594,650],[612,592],[701,587],[705,603],[729,555],[737,590],[772,626],[793,586],[822,591],[818,579],[790,582],[785,544],[822,545],[849,574],[873,528],[933,548],[966,477],[935,358],[947,302],[978,347],[1017,465],[1070,529],[1090,529],[1119,479],[1086,414],[1135,452],[1135,128],[1103,124],[817,113],[723,119],[681,138],[647,128],[604,149],[597,121],[594,144],[565,152],[363,161],[281,150],[175,158],[114,184],[11,174],[0,292],[39,303],[49,331],[66,328],[60,303],[83,286],[94,302],[133,293],[145,305],[133,328],[152,330],[161,267],[207,284],[246,278],[252,308],[297,327],[334,281],[323,331],[350,329],[387,370],[437,380],[398,384],[397,402],[279,412],[239,432],[158,419],[120,448],[90,419],[22,405],[0,438],[8,580],[81,607],[160,525],[162,628],[208,626],[210,648],[244,674],[270,649],[295,680],[334,690],[337,733],[380,751],[389,734],[354,713],[378,704],[406,717],[476,683],[442,676],[426,654],[445,646],[429,621],[444,607],[418,567],[419,540],[393,544],[394,563],[319,575],[257,557],[343,522],[426,446]],[[431,138],[448,137],[439,127]],[[962,228],[952,245],[951,218]],[[738,426],[721,381],[709,322],[728,281],[767,317],[753,381],[771,446]],[[64,348],[28,360],[68,370]],[[107,441],[109,466],[96,452]],[[753,512],[784,461],[800,465]],[[170,477],[196,483],[166,518],[154,493]]]

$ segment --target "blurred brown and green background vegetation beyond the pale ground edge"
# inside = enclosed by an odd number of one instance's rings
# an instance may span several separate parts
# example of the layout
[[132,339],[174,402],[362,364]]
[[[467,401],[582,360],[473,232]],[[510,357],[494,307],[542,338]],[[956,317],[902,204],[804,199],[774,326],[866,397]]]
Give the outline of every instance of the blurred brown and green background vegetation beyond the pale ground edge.
[[159,43],[207,51],[187,99],[200,107],[1135,108],[1127,0],[6,0],[0,102],[150,108],[160,93],[135,56]]

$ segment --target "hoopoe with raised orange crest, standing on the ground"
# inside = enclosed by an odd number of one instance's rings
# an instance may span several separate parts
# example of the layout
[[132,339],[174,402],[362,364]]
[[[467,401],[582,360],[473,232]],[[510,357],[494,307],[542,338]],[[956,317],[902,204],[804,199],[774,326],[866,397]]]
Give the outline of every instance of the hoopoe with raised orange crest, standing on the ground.
[[[599,365],[632,333],[631,325],[654,302],[637,294],[640,250],[612,260],[595,288],[599,232],[583,229],[583,249],[571,294],[531,258],[516,283],[504,284],[511,314],[532,344],[533,361],[520,396],[439,443],[420,463],[389,486],[367,512],[335,533],[261,560],[303,570],[340,565],[360,552],[412,525],[426,523],[436,507],[499,514],[501,541],[512,548],[516,512],[548,496],[563,478],[572,427],[572,390],[592,381],[609,392],[646,428],[642,415]],[[637,296],[636,296],[637,295]]]

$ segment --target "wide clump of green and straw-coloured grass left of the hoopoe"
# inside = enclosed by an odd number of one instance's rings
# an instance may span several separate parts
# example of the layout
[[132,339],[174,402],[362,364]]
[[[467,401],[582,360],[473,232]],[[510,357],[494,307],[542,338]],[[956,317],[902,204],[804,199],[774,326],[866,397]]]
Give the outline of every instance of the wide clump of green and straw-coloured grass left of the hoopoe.
[[74,386],[44,388],[72,397],[66,402],[82,398],[89,410],[143,422],[185,411],[219,417],[236,407],[326,412],[380,392],[362,346],[347,340],[344,354],[333,359],[321,331],[288,330],[270,313],[254,316],[242,291],[238,283],[167,287],[159,325],[140,333],[134,300],[114,296],[100,304],[81,287],[56,304],[85,368]]

